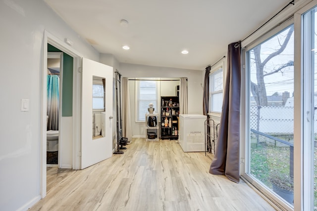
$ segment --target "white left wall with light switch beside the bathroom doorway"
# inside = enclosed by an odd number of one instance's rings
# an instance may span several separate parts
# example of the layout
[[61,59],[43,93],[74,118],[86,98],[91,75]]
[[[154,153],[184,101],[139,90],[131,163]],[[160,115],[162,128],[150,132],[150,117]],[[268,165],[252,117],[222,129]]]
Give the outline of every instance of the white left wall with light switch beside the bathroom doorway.
[[[42,0],[0,1],[0,28],[0,210],[27,210],[40,199],[44,31],[84,57],[99,61],[99,53]],[[21,99],[30,100],[28,112]]]

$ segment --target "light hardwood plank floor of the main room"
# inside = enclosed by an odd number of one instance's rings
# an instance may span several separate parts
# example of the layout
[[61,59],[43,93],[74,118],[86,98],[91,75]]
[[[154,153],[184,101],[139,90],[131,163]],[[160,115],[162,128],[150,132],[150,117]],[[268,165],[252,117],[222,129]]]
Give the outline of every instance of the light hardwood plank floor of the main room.
[[210,174],[205,153],[138,138],[83,170],[48,168],[47,196],[30,211],[273,211],[251,187]]

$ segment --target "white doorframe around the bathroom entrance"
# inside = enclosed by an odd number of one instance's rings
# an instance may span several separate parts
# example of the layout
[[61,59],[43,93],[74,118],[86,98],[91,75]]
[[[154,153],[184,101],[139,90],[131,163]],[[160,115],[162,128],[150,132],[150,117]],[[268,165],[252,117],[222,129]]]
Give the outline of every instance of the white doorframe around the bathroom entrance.
[[46,167],[46,111],[47,111],[47,60],[48,60],[48,43],[57,47],[62,52],[67,53],[73,57],[73,140],[72,140],[72,169],[80,169],[80,125],[81,125],[81,58],[82,55],[74,50],[71,46],[62,42],[60,39],[55,37],[48,31],[44,31],[43,39],[43,78],[42,78],[42,96],[41,96],[41,145],[40,145],[40,155],[41,155],[41,165],[40,165],[40,185],[41,185],[41,198],[46,196],[47,189],[47,167]]

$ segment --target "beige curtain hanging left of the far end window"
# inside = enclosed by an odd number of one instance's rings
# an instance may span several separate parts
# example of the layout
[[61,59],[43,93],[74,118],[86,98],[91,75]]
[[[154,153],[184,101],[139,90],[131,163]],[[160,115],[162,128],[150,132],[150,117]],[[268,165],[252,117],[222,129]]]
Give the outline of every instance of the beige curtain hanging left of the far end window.
[[132,120],[130,106],[130,90],[128,78],[122,78],[122,136],[132,143]]

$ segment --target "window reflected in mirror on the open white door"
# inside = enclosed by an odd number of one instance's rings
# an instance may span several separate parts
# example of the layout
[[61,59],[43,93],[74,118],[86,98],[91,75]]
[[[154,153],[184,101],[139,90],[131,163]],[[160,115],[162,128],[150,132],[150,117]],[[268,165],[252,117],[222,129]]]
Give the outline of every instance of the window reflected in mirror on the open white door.
[[101,80],[93,80],[93,110],[104,111],[105,90]]

